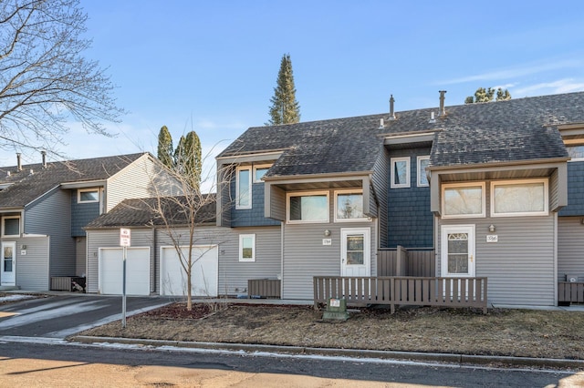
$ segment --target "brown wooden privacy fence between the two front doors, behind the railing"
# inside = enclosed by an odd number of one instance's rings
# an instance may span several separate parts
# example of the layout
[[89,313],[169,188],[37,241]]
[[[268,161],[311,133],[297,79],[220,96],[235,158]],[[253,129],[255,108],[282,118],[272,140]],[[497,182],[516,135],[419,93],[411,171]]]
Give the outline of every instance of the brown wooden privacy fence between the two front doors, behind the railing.
[[378,276],[418,276],[436,275],[434,250],[395,250],[377,251]]

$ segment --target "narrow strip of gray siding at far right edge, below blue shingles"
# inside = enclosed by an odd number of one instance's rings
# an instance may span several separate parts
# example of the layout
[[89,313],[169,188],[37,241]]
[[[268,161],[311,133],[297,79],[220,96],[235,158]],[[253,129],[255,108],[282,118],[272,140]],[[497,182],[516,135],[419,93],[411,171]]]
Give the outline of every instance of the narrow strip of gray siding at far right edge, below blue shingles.
[[558,281],[577,275],[584,281],[584,225],[580,217],[558,218]]

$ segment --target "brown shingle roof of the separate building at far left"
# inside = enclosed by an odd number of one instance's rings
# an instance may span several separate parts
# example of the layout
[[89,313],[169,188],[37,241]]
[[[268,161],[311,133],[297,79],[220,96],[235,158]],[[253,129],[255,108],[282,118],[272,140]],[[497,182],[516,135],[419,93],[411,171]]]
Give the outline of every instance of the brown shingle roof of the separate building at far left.
[[143,155],[50,162],[47,168],[36,163],[24,165],[21,171],[16,166],[0,167],[0,184],[11,184],[0,190],[0,208],[22,208],[62,183],[108,179]]

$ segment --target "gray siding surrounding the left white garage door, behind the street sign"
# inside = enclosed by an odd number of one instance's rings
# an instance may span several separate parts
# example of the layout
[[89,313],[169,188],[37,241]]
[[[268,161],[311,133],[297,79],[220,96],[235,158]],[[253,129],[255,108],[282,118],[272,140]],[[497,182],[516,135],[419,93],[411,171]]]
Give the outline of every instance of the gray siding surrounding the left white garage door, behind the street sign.
[[[88,275],[87,291],[99,292],[99,248],[119,248],[120,230],[88,230]],[[132,229],[131,246],[135,248],[152,247],[151,229]],[[151,255],[152,255],[151,249]],[[150,273],[154,272],[153,260],[151,260]],[[151,281],[151,292],[153,280]]]

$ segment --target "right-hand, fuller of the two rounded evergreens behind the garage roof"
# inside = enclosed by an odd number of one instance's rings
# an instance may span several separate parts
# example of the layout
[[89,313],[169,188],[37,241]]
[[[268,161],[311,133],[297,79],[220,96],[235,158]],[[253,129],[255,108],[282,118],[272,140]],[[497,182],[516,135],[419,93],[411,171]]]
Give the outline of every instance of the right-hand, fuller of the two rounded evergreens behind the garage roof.
[[203,159],[201,156],[201,140],[195,131],[182,136],[174,151],[174,167],[176,171],[188,180],[193,189],[201,185]]

